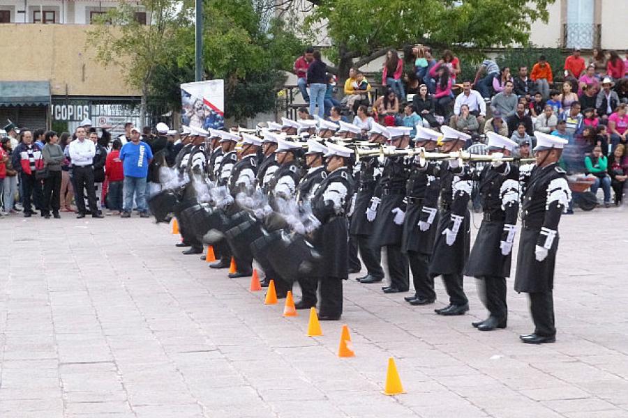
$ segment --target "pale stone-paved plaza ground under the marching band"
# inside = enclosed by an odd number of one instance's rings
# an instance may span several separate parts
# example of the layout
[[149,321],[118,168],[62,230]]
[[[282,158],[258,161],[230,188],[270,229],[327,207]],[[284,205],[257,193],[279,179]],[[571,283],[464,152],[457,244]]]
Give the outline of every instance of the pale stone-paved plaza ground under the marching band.
[[[558,341],[530,346],[512,279],[507,329],[479,332],[472,279],[469,314],[441,317],[440,279],[411,307],[352,275],[342,320],[312,338],[307,312],[182,255],[170,226],[0,219],[0,417],[628,417],[627,222],[563,217]],[[356,357],[336,355],[343,324]],[[406,394],[381,393],[388,357]]]

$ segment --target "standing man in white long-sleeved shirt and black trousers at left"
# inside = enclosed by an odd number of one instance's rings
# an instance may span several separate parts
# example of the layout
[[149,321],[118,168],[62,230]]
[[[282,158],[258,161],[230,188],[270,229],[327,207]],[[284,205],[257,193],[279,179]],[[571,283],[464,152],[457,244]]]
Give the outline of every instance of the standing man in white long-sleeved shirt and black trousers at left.
[[84,218],[87,210],[85,208],[85,198],[83,190],[87,190],[87,199],[89,201],[89,212],[91,217],[101,218],[96,204],[96,190],[94,189],[94,155],[96,155],[96,146],[94,142],[85,139],[86,132],[84,127],[77,127],[76,139],[70,142],[70,159],[73,165],[73,179],[75,186],[76,206],[78,209],[77,218]]

